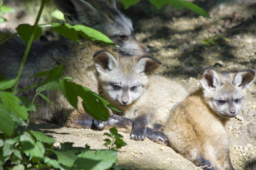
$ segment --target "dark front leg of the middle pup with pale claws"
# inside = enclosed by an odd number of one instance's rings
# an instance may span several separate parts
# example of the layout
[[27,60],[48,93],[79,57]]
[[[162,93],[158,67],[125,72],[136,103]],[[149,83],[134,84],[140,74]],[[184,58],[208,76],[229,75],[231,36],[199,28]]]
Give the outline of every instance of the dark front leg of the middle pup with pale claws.
[[143,141],[147,133],[148,118],[146,116],[139,116],[133,122],[133,130],[130,138],[136,141]]

